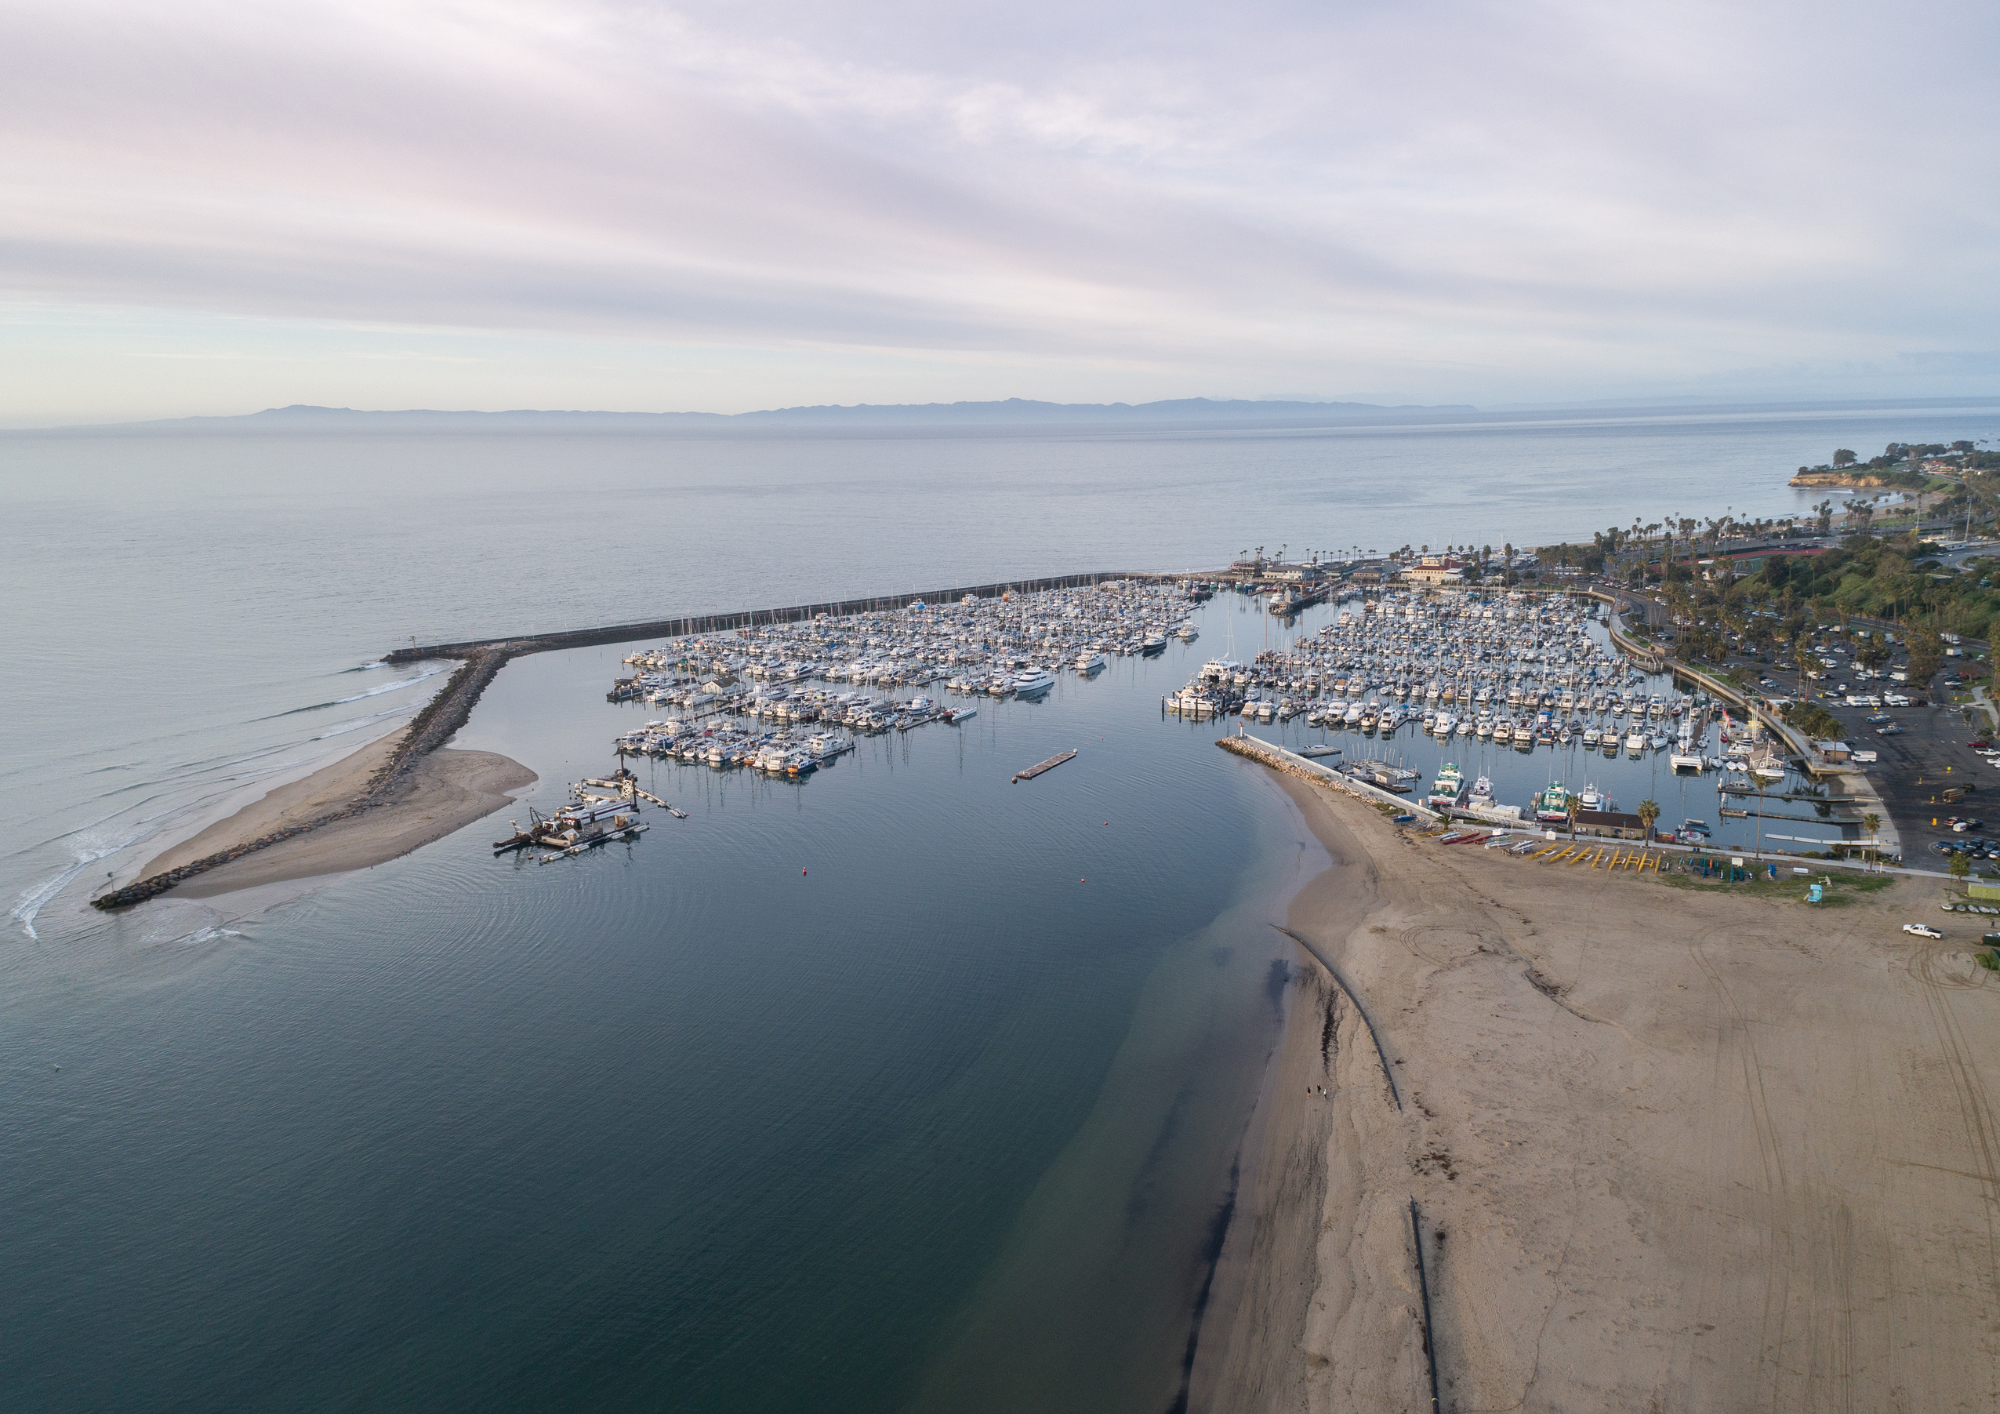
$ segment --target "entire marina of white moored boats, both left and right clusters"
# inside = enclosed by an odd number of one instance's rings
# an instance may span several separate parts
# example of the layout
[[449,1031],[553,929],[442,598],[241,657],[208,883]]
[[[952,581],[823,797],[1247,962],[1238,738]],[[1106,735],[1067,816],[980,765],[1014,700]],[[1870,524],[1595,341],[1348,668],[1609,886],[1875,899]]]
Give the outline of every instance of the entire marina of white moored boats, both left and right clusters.
[[[1112,662],[1144,670],[1174,646],[1184,682],[1160,694],[1164,722],[1256,724],[1308,760],[1468,824],[1726,848],[1756,846],[1770,818],[1822,830],[1796,844],[1858,840],[1858,816],[1796,772],[1760,724],[1648,670],[1610,628],[1584,594],[1520,590],[1300,596],[1190,576],[910,598],[626,654],[606,698],[670,714],[618,732],[610,750],[806,782],[864,740],[964,728],[980,702],[1040,704],[1058,680],[1088,690]],[[1222,652],[1198,660],[1198,640]],[[1238,658],[1236,642],[1260,646]],[[1824,810],[1764,808],[1780,798]]]

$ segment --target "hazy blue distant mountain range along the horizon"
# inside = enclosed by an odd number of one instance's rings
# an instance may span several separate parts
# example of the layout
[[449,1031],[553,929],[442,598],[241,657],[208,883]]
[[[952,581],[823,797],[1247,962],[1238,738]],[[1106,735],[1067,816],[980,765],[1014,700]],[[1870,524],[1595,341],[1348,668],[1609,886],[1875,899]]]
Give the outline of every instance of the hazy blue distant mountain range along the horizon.
[[126,428],[314,428],[314,430],[404,430],[404,428],[604,428],[604,430],[728,430],[728,428],[1028,428],[1054,426],[1334,426],[1342,422],[1428,420],[1476,412],[1454,406],[1380,406],[1372,402],[1254,402],[1246,398],[1168,398],[1166,402],[906,402],[816,408],[768,408],[762,412],[368,412],[358,408],[266,408],[232,418],[172,418],[128,422]]

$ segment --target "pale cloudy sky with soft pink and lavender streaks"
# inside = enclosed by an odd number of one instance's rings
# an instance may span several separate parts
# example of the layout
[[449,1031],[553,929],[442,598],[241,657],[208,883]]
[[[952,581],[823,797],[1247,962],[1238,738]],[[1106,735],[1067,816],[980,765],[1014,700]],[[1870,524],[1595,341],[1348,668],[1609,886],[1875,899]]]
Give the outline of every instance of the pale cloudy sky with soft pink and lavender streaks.
[[0,424],[2000,396],[2000,6],[0,0]]

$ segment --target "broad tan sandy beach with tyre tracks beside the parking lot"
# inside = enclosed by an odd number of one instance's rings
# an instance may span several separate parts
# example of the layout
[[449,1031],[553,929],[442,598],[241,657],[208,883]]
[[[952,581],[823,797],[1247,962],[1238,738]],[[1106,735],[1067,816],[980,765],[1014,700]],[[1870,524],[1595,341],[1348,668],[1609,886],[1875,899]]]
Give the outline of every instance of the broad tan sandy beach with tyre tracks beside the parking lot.
[[1300,948],[1192,1408],[1430,1408],[1412,1198],[1446,1410],[2000,1408],[2000,974],[1938,882],[1808,908],[1280,780],[1402,1110]]

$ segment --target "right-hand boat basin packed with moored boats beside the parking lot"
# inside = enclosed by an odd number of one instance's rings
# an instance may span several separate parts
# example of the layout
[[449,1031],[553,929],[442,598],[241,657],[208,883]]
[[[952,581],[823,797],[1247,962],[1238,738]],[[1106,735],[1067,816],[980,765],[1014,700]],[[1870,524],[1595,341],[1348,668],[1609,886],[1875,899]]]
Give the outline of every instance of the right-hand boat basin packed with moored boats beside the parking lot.
[[[1812,830],[1794,832],[1800,852],[1860,840],[1858,816],[1760,724],[1620,652],[1584,594],[1350,590],[1280,616],[1266,642],[1278,594],[1218,596],[1208,640],[1262,646],[1192,666],[1162,714],[1202,732],[1254,724],[1320,766],[1492,828],[1656,828],[1758,848],[1764,812],[1744,800],[1788,796],[1816,802],[1788,816]],[[1222,608],[1230,628],[1214,624]]]

